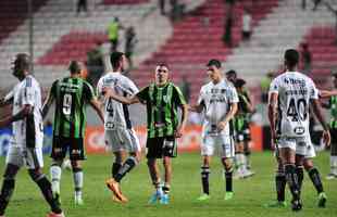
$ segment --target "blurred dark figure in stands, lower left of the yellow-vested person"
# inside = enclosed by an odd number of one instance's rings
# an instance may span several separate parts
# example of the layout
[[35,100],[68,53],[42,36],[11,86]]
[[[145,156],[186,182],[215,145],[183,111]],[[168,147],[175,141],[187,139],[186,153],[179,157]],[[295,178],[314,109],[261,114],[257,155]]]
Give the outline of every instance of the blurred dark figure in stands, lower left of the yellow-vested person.
[[98,41],[96,47],[87,53],[88,81],[96,86],[96,82],[104,72],[102,42]]

